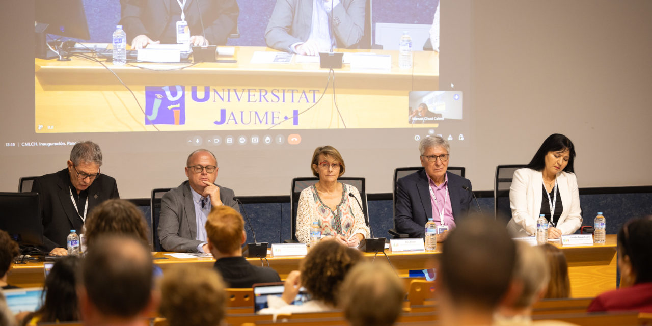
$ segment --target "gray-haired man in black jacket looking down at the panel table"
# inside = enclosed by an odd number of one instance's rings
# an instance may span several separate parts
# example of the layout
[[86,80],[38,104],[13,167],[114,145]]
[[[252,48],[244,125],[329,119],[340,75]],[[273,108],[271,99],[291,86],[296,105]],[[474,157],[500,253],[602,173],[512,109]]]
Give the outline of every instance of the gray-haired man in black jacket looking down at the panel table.
[[119,198],[115,179],[100,173],[102,151],[93,141],[72,147],[68,167],[38,177],[32,191],[40,197],[43,246],[50,254],[68,254],[70,230],[82,231],[86,216],[102,201]]

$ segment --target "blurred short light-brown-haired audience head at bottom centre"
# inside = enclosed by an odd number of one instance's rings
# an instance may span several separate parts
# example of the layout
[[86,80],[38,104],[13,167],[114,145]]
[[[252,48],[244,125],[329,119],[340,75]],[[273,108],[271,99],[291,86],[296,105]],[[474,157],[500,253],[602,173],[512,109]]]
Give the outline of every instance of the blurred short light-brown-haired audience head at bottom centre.
[[400,316],[403,281],[386,263],[355,265],[340,286],[340,307],[352,326],[394,325]]

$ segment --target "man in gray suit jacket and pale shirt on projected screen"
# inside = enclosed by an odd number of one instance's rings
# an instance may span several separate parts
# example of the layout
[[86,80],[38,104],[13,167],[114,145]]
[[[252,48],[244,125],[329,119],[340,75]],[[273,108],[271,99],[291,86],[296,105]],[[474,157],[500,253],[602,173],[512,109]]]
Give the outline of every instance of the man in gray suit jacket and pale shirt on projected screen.
[[364,34],[365,5],[366,0],[277,0],[265,42],[303,55],[329,52],[331,44],[353,48]]

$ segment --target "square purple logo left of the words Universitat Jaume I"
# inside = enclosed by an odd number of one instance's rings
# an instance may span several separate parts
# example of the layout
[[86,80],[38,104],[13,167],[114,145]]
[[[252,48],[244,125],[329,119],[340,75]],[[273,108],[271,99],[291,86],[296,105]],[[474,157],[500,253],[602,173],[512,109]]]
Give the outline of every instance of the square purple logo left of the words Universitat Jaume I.
[[185,86],[145,86],[145,125],[185,125]]

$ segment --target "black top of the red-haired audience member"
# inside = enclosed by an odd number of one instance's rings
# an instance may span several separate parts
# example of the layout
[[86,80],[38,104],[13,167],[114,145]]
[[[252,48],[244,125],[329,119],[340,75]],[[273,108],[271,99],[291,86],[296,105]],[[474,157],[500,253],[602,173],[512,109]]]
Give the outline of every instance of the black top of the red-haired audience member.
[[222,274],[229,288],[251,288],[256,283],[281,281],[273,269],[254,266],[243,256],[220,258],[215,261],[215,269]]

